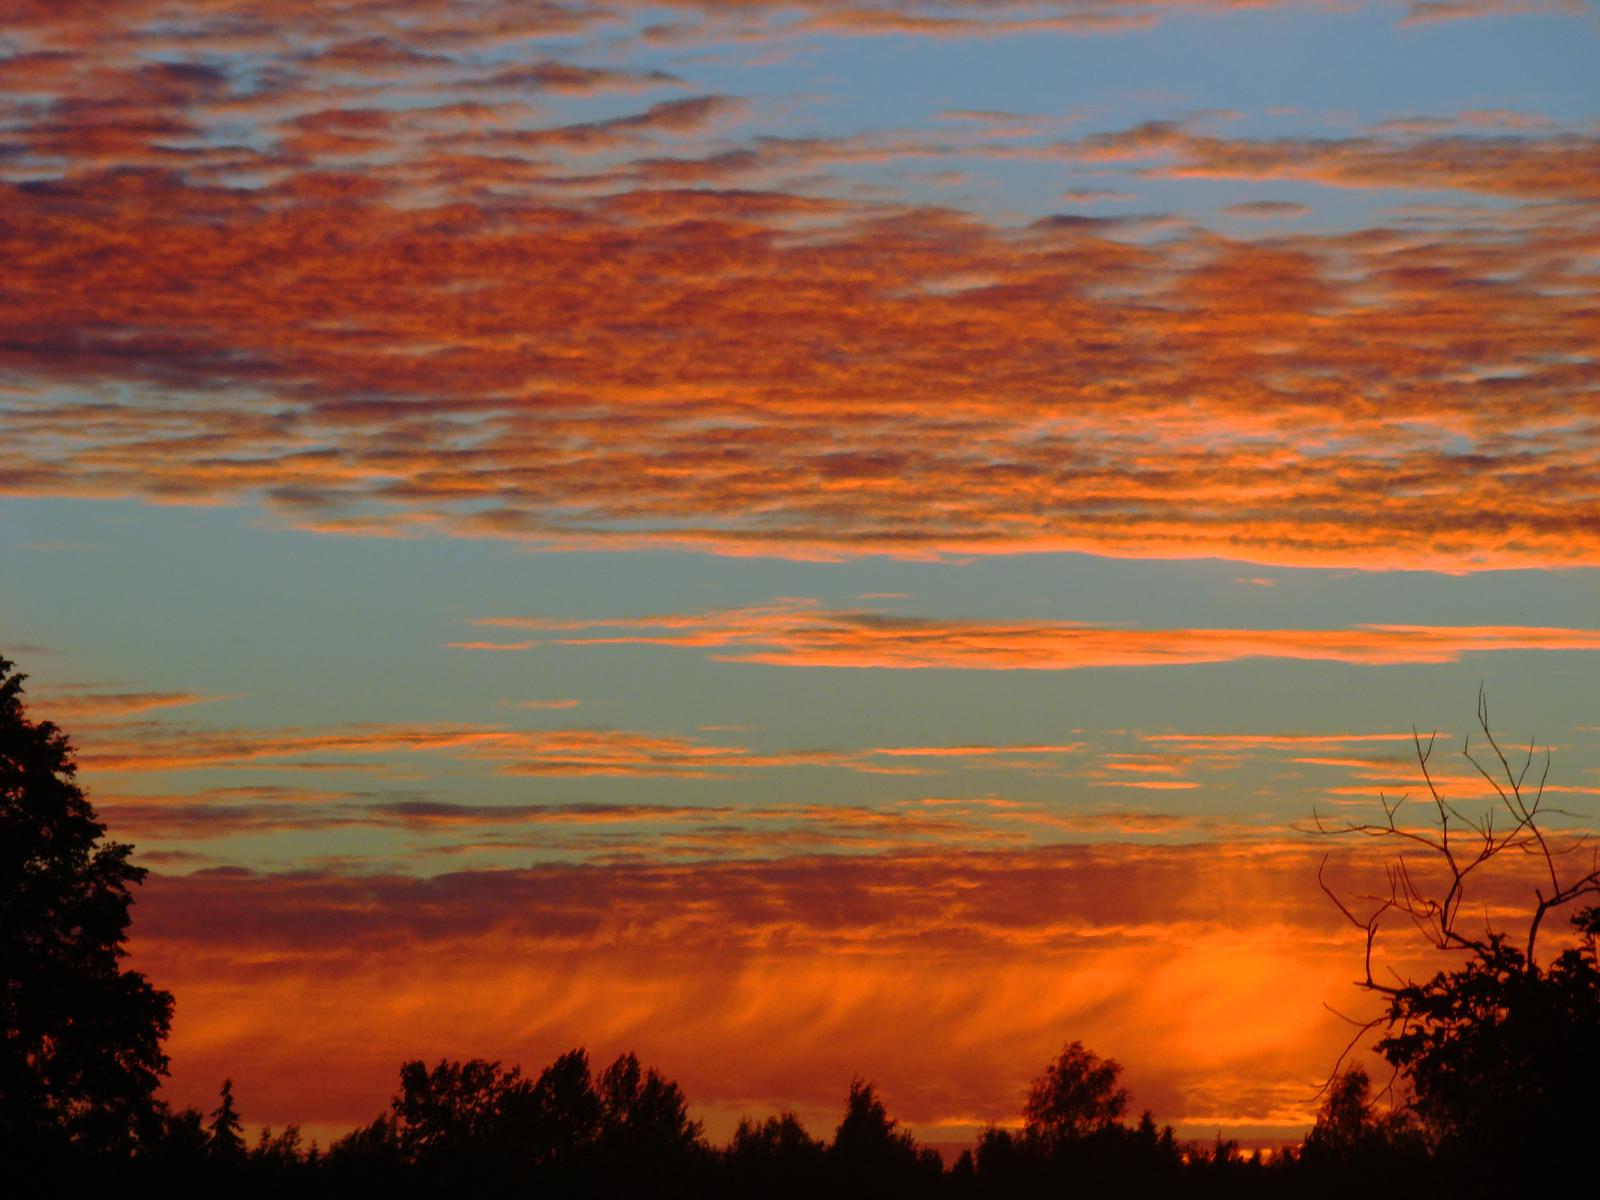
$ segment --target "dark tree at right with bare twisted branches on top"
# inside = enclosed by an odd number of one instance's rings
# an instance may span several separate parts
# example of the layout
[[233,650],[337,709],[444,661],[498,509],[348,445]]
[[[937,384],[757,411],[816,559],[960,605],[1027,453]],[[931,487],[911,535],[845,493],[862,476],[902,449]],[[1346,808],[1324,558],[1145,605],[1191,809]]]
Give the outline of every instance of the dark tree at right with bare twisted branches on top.
[[[1482,688],[1477,715],[1490,766],[1474,757],[1470,738],[1461,752],[1494,794],[1494,803],[1483,813],[1464,813],[1445,797],[1429,766],[1434,738],[1424,744],[1413,733],[1430,797],[1426,824],[1405,822],[1406,797],[1394,803],[1381,797],[1379,822],[1328,827],[1318,819],[1323,834],[1373,837],[1394,842],[1402,851],[1421,851],[1443,880],[1430,890],[1426,875],[1402,853],[1389,864],[1387,894],[1342,899],[1323,882],[1330,899],[1365,933],[1358,986],[1387,1002],[1381,1016],[1360,1022],[1350,1048],[1370,1030],[1386,1030],[1374,1048],[1410,1088],[1410,1106],[1435,1144],[1453,1155],[1483,1160],[1502,1152],[1576,1154],[1600,1120],[1600,1093],[1594,1085],[1600,1078],[1595,909],[1573,917],[1584,938],[1581,947],[1563,950],[1547,968],[1539,966],[1536,952],[1552,910],[1600,894],[1600,856],[1576,858],[1584,837],[1562,838],[1544,827],[1549,754],[1539,778],[1530,781],[1533,744],[1522,765],[1514,766],[1490,730]],[[1461,922],[1469,885],[1504,856],[1531,862],[1539,875],[1525,933],[1517,938],[1496,930],[1486,914],[1483,933]],[[1365,917],[1355,912],[1363,902]],[[1400,976],[1381,982],[1373,974],[1373,957],[1390,914],[1408,918],[1435,950],[1462,954],[1466,962],[1426,982]]]

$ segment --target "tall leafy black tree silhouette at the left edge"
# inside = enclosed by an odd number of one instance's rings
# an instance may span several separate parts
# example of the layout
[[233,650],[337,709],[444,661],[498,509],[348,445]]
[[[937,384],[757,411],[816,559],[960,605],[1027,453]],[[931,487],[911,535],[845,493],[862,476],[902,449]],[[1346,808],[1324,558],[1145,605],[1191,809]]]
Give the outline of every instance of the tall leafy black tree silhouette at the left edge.
[[67,734],[30,722],[0,658],[0,1144],[126,1149],[158,1123],[173,997],[122,968],[146,877],[74,782]]

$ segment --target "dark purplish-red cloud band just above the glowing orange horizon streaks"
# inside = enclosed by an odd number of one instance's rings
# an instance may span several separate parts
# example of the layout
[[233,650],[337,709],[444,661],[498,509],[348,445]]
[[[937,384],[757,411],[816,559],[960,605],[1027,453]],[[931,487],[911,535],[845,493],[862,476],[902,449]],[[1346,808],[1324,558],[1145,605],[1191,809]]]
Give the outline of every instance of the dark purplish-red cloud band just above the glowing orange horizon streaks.
[[[1317,890],[1322,853],[1283,843],[1078,845],[432,878],[214,870],[157,878],[138,914],[144,939],[296,947],[309,957],[374,939],[446,944],[496,930],[530,941],[610,931],[624,941],[752,950],[778,928],[789,944],[819,946],[858,941],[870,928],[877,946],[950,952],[987,952],[997,939],[1026,944],[1045,930],[1096,938],[1184,920],[1291,922],[1333,934],[1342,918]],[[1250,869],[1232,870],[1243,864]]]

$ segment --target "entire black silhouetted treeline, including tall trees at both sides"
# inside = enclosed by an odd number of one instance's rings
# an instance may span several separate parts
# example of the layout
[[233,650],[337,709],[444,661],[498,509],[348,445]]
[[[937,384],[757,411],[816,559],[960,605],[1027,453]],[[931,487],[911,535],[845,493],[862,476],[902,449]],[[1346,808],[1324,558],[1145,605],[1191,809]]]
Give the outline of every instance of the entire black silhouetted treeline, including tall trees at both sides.
[[[1432,832],[1405,824],[1400,802],[1387,800],[1384,822],[1323,830],[1400,838],[1448,867],[1438,896],[1413,882],[1402,856],[1390,893],[1366,898],[1365,917],[1330,890],[1366,931],[1362,986],[1384,1000],[1352,1040],[1381,1032],[1371,1048],[1394,1075],[1378,1098],[1368,1074],[1341,1058],[1304,1141],[1246,1155],[1221,1136],[1181,1141],[1149,1110],[1128,1120],[1122,1067],[1072,1042],[1034,1080],[1014,1126],[986,1128],[947,1165],[861,1078],[832,1139],[782,1112],[741,1120],[714,1146],[677,1083],[634,1054],[595,1070],[584,1050],[538,1075],[483,1059],[405,1062],[387,1110],[326,1149],[304,1146],[293,1125],[250,1142],[230,1080],[210,1114],[171,1109],[157,1090],[173,998],[120,962],[131,890],[146,872],[131,846],[104,840],[74,782],[66,733],[27,718],[22,678],[0,658],[0,1178],[43,1170],[61,1186],[168,1195],[1002,1200],[1475,1194],[1587,1171],[1600,1128],[1600,909],[1573,906],[1600,893],[1600,862],[1590,858],[1587,874],[1568,867],[1574,848],[1539,824],[1542,779],[1526,786],[1531,747],[1514,768],[1482,696],[1509,824],[1446,802],[1429,773],[1430,744],[1418,739]],[[1456,920],[1474,872],[1506,853],[1533,854],[1549,872],[1517,942]],[[1563,906],[1574,944],[1541,965],[1539,925]],[[1390,914],[1459,965],[1379,982],[1373,960]]]

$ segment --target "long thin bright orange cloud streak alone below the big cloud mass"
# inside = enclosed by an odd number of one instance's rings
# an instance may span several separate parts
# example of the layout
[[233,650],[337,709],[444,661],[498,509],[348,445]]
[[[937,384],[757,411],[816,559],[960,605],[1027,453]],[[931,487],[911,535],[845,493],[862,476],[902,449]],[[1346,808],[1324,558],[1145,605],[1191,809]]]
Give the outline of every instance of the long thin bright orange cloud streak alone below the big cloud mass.
[[[557,645],[627,643],[733,650],[736,653],[714,658],[797,667],[1067,670],[1232,662],[1242,658],[1394,664],[1454,662],[1462,654],[1504,650],[1600,650],[1600,630],[1587,629],[1114,629],[1064,621],[950,621],[805,605],[592,621],[482,618],[474,624],[539,630]],[[560,637],[562,634],[587,635]],[[448,645],[522,650],[542,642]]]

